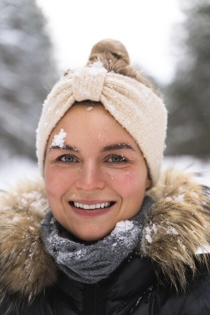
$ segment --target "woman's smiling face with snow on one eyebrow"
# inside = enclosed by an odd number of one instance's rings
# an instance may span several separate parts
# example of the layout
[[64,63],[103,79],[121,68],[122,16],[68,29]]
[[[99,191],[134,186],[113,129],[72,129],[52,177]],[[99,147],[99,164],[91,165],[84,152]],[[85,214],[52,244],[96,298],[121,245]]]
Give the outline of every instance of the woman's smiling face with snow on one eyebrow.
[[141,150],[102,105],[66,112],[49,137],[44,170],[54,217],[85,241],[132,218],[150,186]]

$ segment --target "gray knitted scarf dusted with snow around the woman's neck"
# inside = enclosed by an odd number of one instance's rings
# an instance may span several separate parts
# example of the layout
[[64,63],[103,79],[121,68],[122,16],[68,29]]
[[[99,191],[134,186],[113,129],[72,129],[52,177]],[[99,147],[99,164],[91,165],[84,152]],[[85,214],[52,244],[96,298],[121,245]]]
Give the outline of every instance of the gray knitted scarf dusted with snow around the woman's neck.
[[42,241],[59,269],[69,278],[96,283],[107,278],[141,242],[145,214],[152,204],[153,199],[146,196],[132,219],[117,222],[109,235],[91,245],[67,232],[50,211],[42,222]]

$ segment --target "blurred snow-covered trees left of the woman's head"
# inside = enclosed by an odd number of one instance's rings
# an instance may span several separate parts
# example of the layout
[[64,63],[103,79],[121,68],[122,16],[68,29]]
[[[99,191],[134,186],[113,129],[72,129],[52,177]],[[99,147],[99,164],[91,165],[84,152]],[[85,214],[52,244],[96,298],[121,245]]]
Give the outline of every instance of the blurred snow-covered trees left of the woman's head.
[[0,2],[0,146],[35,159],[42,103],[57,79],[45,18],[35,0]]

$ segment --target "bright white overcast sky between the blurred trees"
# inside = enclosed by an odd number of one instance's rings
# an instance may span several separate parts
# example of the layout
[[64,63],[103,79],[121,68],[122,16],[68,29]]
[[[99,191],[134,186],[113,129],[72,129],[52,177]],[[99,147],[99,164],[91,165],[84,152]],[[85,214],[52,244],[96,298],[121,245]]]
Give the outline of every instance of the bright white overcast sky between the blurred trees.
[[47,18],[60,70],[86,64],[101,39],[120,40],[131,63],[169,82],[179,59],[170,40],[184,20],[177,0],[36,0]]

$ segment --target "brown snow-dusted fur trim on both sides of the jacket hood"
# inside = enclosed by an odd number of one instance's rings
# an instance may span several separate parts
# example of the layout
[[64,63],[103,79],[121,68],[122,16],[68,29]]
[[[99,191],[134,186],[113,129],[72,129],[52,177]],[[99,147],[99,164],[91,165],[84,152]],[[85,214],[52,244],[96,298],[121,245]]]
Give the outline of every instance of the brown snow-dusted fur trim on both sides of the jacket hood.
[[[207,188],[190,174],[172,169],[149,191],[154,198],[139,252],[158,263],[171,282],[186,284],[185,270],[195,270],[198,247],[210,244]],[[1,193],[0,296],[19,293],[30,301],[56,281],[56,266],[41,240],[40,222],[48,210],[41,178]],[[207,264],[205,255],[198,260]]]

